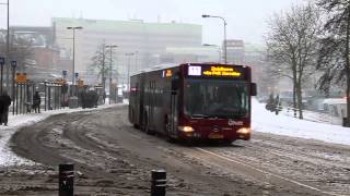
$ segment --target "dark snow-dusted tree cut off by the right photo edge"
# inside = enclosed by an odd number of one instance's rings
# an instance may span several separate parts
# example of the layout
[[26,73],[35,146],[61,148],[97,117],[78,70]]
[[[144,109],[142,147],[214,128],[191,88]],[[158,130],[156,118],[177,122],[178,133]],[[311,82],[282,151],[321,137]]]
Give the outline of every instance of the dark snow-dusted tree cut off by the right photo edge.
[[350,126],[350,0],[316,2],[326,12],[317,63],[323,72],[318,87],[327,93],[331,83],[346,86],[347,126]]

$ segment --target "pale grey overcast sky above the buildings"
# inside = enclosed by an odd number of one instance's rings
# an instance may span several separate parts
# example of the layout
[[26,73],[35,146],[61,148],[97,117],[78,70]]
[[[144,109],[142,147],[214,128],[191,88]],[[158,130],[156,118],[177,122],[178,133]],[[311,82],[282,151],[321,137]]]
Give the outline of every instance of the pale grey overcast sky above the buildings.
[[[201,24],[203,42],[219,45],[228,22],[228,39],[262,42],[266,21],[273,12],[288,9],[303,0],[10,0],[11,25],[50,25],[50,17],[84,17],[97,20],[142,19],[147,22],[184,22]],[[0,3],[7,0],[0,0]],[[0,4],[0,28],[7,24],[7,8]]]

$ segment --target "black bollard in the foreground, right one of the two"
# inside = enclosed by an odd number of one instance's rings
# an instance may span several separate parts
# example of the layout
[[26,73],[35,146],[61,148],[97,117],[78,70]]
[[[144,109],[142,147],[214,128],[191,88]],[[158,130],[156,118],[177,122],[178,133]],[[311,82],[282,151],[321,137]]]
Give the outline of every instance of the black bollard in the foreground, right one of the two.
[[151,196],[165,196],[166,171],[152,170]]

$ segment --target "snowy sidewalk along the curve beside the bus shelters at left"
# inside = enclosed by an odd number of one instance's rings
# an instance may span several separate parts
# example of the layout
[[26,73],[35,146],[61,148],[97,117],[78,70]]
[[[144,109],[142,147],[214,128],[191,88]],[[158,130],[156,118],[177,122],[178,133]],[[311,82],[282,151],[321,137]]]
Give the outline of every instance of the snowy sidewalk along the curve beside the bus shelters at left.
[[23,126],[27,126],[34,124],[36,122],[43,121],[46,118],[59,113],[71,113],[78,111],[90,111],[90,110],[101,110],[109,107],[114,107],[116,105],[103,105],[98,106],[98,108],[92,109],[61,109],[61,110],[50,110],[50,111],[43,111],[42,113],[27,113],[21,115],[12,115],[9,114],[9,126],[0,125],[0,166],[14,166],[14,164],[34,164],[34,162],[20,158],[10,149],[9,140],[11,136],[19,131]]

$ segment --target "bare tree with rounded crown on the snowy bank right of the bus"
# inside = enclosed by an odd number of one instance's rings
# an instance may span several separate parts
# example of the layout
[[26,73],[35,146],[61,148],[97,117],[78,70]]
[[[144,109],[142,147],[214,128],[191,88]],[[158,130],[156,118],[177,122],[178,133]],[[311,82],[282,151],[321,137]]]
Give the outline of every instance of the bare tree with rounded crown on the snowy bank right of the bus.
[[271,72],[292,81],[293,107],[298,108],[299,118],[303,119],[302,88],[315,66],[319,12],[311,3],[292,5],[288,12],[275,14],[269,28],[266,42],[273,66]]

